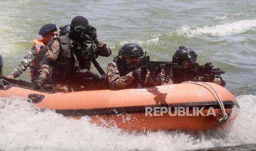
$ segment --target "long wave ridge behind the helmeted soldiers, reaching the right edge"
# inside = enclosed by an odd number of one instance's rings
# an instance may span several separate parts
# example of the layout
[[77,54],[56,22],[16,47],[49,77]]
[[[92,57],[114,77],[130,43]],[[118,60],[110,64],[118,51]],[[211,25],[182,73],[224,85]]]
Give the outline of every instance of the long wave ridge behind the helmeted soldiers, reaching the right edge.
[[[214,26],[186,26],[182,25],[181,28],[170,31],[168,33],[149,34],[148,36],[137,37],[135,39],[122,40],[118,43],[117,47],[120,47],[126,43],[137,43],[139,45],[159,45],[161,43],[177,43],[177,40],[188,40],[188,37],[206,37],[212,36],[228,36],[232,34],[253,34],[256,31],[256,19],[253,20],[240,20],[235,22],[229,22]],[[167,41],[167,42],[166,42]],[[115,47],[113,47],[115,49]],[[119,48],[118,48],[119,49]]]

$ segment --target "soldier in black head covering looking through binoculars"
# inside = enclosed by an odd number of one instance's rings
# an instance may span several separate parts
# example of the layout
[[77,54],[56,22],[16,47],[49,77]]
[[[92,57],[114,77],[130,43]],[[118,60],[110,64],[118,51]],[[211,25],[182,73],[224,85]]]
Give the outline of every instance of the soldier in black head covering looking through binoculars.
[[70,33],[56,38],[41,61],[39,78],[34,81],[39,89],[52,69],[52,80],[58,92],[84,90],[81,81],[85,72],[90,72],[95,56],[111,55],[111,50],[96,34],[96,28],[89,25],[83,16],[76,16],[70,24]]

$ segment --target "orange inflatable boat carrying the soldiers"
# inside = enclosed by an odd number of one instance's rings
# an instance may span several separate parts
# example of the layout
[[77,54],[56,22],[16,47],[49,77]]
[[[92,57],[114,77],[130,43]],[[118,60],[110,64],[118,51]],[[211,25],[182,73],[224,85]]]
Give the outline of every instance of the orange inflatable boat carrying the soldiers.
[[[15,82],[15,84],[13,84]],[[1,79],[0,97],[13,95],[66,117],[89,116],[92,123],[123,130],[209,130],[230,123],[239,108],[230,91],[214,83],[182,83],[144,89],[49,94],[31,83]]]

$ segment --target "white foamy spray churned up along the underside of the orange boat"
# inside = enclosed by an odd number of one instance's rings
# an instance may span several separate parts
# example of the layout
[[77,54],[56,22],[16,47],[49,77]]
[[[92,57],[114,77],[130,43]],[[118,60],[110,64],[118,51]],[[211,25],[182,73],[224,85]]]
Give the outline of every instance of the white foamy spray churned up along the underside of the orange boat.
[[[127,133],[0,98],[0,150],[187,150],[256,143],[256,96],[238,96],[239,115],[217,130]],[[117,141],[118,140],[118,141]]]

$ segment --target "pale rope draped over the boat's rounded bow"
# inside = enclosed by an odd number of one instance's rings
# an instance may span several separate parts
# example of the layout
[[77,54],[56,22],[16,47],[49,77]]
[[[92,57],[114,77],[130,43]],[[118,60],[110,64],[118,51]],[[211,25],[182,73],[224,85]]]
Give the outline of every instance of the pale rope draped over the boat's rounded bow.
[[[224,104],[223,104],[223,102],[221,101],[219,92],[217,92],[217,90],[214,89],[213,86],[211,86],[211,85],[208,84],[208,83],[203,83],[203,82],[183,82],[183,83],[197,84],[197,85],[203,86],[204,88],[208,89],[208,90],[211,92],[211,94],[213,94],[213,96],[215,97],[216,101],[219,103],[220,109],[221,109],[221,113],[223,114],[223,117],[217,119],[216,122],[217,122],[217,123],[225,123],[225,122],[227,121],[228,115],[227,115],[227,113],[226,113]],[[206,85],[208,85],[209,87],[207,87]]]

